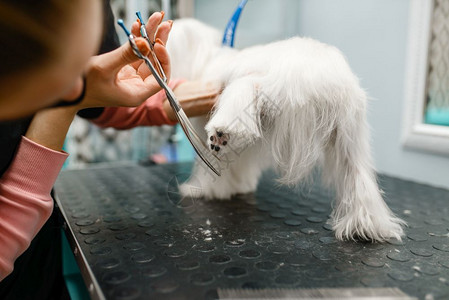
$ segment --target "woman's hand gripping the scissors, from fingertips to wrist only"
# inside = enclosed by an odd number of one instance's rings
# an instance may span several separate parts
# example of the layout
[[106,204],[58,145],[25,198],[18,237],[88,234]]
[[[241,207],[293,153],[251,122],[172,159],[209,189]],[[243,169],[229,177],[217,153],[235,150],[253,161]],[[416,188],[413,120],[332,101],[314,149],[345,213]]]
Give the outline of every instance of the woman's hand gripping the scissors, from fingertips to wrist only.
[[[154,13],[146,24],[154,52],[170,77],[170,59],[165,49],[171,21],[162,22],[163,14]],[[139,23],[132,26],[136,44],[142,53],[149,53],[148,43],[140,36]],[[151,58],[151,55],[149,55]],[[160,90],[159,84],[145,63],[133,53],[129,43],[89,62],[86,73],[86,96],[78,109],[106,106],[138,106]]]

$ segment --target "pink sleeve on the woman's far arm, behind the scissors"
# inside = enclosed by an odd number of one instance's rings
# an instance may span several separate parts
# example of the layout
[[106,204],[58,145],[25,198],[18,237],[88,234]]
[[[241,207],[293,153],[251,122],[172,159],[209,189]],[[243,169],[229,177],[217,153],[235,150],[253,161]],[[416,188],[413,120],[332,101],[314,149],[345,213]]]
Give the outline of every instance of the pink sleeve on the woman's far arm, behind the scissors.
[[[183,80],[172,80],[170,88],[176,88]],[[138,107],[107,107],[103,113],[91,121],[99,127],[113,127],[116,129],[129,129],[137,126],[174,125],[163,109],[166,99],[163,90],[157,92]]]

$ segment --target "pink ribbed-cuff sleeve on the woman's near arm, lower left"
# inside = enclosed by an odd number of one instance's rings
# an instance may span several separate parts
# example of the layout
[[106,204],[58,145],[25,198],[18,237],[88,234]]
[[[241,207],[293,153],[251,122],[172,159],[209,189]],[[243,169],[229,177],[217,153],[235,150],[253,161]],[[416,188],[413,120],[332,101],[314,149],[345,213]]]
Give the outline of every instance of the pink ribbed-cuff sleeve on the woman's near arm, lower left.
[[22,137],[0,178],[0,281],[50,217],[50,192],[67,156]]

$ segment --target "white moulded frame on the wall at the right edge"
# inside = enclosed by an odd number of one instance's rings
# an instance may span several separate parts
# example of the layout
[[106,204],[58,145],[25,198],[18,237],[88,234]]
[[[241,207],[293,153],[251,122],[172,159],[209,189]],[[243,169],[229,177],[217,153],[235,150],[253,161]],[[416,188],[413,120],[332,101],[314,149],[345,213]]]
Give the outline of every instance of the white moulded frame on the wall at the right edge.
[[434,1],[410,1],[402,144],[449,156],[449,126],[424,123]]

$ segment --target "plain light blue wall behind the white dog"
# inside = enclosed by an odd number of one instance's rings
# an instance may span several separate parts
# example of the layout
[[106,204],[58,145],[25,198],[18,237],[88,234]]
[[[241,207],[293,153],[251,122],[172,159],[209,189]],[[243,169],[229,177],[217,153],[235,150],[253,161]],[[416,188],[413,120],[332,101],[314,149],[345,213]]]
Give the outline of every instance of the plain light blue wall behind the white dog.
[[[239,1],[195,0],[195,17],[224,28]],[[372,101],[369,123],[379,172],[449,188],[449,157],[405,150],[403,117],[409,0],[249,0],[236,46],[292,35],[337,46]]]

